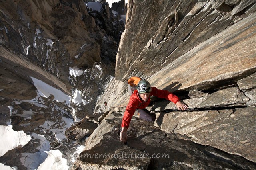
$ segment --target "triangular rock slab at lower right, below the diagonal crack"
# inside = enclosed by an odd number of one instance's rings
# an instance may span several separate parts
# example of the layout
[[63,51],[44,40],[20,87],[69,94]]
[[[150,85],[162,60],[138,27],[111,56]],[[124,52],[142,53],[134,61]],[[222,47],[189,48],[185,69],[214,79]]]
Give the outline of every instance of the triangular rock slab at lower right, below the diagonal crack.
[[191,140],[196,143],[210,145],[256,162],[255,113],[256,107],[235,109],[229,117],[219,119],[186,135],[192,137]]

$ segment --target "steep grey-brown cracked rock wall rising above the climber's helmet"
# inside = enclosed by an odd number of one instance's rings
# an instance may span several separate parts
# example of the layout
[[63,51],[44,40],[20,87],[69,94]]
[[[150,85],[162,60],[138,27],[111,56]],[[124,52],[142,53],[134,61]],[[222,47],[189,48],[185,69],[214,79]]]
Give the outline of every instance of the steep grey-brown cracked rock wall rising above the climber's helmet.
[[148,78],[254,11],[255,1],[130,0],[115,77]]

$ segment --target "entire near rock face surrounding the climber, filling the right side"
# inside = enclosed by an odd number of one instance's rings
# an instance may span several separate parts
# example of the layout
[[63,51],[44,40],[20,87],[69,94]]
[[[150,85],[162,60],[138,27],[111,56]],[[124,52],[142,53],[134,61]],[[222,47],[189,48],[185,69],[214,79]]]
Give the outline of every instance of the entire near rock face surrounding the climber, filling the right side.
[[[240,168],[245,166],[254,169],[255,6],[255,1],[236,0],[195,0],[189,3],[130,0],[126,29],[122,34],[116,60],[115,79],[110,81],[104,95],[100,96],[95,112],[125,108],[129,100],[126,80],[130,76],[146,78],[152,86],[174,92],[188,104],[189,109],[178,111],[172,102],[153,97],[148,109],[156,113],[154,126],[158,129],[154,129],[155,127],[150,124],[146,125],[144,121],[133,119],[128,131],[127,145],[130,150],[138,149],[152,154],[161,152],[162,146],[164,150],[172,150],[172,146],[176,146],[179,156],[186,155],[185,157],[191,161],[195,158],[203,169],[223,169],[227,166],[226,163],[231,169],[238,168],[231,162],[239,162]],[[107,101],[109,107],[100,106],[102,101]],[[102,121],[102,126],[109,127],[108,130],[100,130],[98,127],[88,138],[86,147],[73,169],[155,169],[153,164],[157,164],[159,169],[199,168],[196,162],[186,162],[182,156],[179,157],[182,160],[173,156],[166,162],[164,159],[156,160],[151,157],[148,165],[147,159],[144,159],[143,167],[135,162],[132,165],[136,167],[126,167],[122,160],[111,157],[101,158],[99,162],[95,158],[86,159],[84,156],[92,153],[112,155],[115,151],[127,152],[126,145],[114,141],[119,138],[122,122],[122,116],[118,115],[118,121],[113,117],[116,115],[118,114],[112,113]],[[119,124],[116,123],[114,126],[113,121]],[[106,125],[106,122],[109,124]],[[165,132],[165,137],[156,135],[162,131]],[[109,143],[108,140],[114,143],[115,147],[112,147],[112,150],[106,145]],[[151,140],[157,145],[151,144]],[[178,140],[181,143],[170,145],[166,140]],[[191,153],[192,158],[188,156],[189,152],[185,153],[178,149],[181,146],[184,149],[188,144],[184,144],[182,140],[195,142],[191,144],[196,148],[193,154]],[[202,145],[209,148],[204,147],[204,151],[198,149]],[[209,151],[212,147],[219,149],[221,153],[217,153],[216,150]],[[102,152],[99,152],[98,148]],[[190,150],[188,148],[186,150]],[[197,154],[198,150],[201,154]],[[234,161],[234,157],[227,158],[224,153],[248,162]],[[204,165],[202,158],[211,163]],[[223,162],[218,162],[220,159]],[[215,161],[219,166],[214,163]],[[249,164],[252,166],[249,167]]]

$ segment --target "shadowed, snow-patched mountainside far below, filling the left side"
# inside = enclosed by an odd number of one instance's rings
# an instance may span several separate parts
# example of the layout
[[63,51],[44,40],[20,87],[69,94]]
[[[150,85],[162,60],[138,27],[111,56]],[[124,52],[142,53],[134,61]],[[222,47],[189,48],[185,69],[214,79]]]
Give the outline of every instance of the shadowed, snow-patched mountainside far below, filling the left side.
[[[79,142],[66,139],[65,130],[93,113],[97,96],[114,76],[124,30],[120,14],[114,16],[106,1],[95,3],[100,10],[83,0],[1,2],[0,125],[23,131],[31,140],[1,155],[0,169],[3,164],[40,169],[46,159],[63,170],[72,165]],[[44,96],[33,79],[50,86],[44,91],[49,95]],[[67,100],[56,100],[60,94]],[[98,126],[90,123],[88,131],[80,123],[83,129],[76,131],[75,139],[83,140]],[[50,158],[55,151],[62,155]],[[66,164],[60,165],[62,160]]]

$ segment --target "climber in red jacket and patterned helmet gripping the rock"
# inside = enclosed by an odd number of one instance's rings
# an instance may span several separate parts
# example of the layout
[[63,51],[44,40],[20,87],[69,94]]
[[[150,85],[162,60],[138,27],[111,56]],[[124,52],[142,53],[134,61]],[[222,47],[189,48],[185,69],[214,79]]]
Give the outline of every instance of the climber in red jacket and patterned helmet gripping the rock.
[[130,96],[130,101],[124,112],[124,117],[122,121],[122,131],[120,133],[120,140],[126,143],[127,139],[127,129],[129,127],[132,116],[135,111],[138,111],[139,117],[146,121],[155,121],[156,115],[150,113],[146,109],[150,103],[150,96],[157,96],[158,98],[165,98],[176,104],[178,110],[186,110],[188,106],[180,101],[180,99],[167,90],[159,90],[156,87],[151,87],[150,83],[146,80],[140,80],[137,85],[136,90]]

